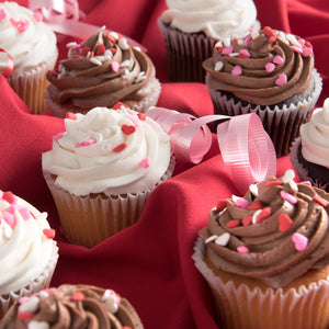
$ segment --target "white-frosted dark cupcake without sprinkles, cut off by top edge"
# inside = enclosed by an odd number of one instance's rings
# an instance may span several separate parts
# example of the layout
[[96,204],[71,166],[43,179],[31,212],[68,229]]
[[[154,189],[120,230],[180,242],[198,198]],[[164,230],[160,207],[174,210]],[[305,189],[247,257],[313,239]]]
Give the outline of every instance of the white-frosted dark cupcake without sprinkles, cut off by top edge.
[[167,0],[168,9],[158,20],[166,44],[167,66],[172,81],[205,81],[202,63],[215,44],[245,37],[259,29],[252,0]]

